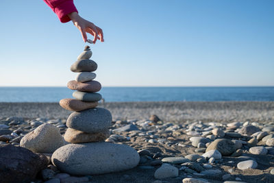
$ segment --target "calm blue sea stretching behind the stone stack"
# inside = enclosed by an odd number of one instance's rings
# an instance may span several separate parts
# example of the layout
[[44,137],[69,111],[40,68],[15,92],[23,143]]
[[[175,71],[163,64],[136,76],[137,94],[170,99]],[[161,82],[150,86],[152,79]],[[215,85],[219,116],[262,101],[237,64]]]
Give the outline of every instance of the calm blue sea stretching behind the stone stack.
[[[65,87],[0,87],[0,102],[58,102]],[[103,87],[105,101],[274,101],[274,87]]]

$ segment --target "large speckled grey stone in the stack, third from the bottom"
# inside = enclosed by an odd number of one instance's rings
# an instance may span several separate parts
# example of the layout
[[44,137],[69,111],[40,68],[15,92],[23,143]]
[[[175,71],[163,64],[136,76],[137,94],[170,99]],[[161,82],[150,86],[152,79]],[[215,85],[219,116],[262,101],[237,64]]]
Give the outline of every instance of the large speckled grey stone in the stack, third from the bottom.
[[104,108],[93,108],[73,112],[66,120],[66,125],[82,132],[101,132],[111,125],[112,115]]

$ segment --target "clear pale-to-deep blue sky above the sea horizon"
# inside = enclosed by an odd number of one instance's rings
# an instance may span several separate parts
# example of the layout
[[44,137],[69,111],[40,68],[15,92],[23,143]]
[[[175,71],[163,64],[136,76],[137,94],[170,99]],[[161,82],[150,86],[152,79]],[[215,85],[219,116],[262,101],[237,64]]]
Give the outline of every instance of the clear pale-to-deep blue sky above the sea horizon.
[[[274,1],[75,0],[103,86],[274,86]],[[66,86],[84,44],[42,0],[1,0],[0,86]],[[89,36],[92,38],[92,36]]]

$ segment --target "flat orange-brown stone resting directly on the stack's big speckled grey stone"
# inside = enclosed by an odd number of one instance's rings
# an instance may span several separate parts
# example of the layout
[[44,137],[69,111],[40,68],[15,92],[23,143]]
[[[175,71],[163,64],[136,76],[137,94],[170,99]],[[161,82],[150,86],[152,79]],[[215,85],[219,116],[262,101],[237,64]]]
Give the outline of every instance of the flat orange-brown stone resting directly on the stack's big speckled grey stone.
[[80,101],[77,99],[62,99],[60,100],[60,106],[66,110],[81,111],[90,108],[96,108],[98,106],[97,101]]

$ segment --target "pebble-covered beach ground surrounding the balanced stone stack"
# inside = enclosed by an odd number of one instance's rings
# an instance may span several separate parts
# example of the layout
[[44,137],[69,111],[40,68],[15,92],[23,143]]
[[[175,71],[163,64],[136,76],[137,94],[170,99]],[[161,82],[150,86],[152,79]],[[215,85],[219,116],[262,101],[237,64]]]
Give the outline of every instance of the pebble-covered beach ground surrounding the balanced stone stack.
[[[105,103],[106,141],[134,147],[138,167],[75,178],[52,164],[34,182],[273,182],[274,102]],[[66,131],[57,103],[0,103],[0,143],[18,146],[43,123]],[[156,114],[157,117],[151,117]],[[157,122],[156,122],[157,121]],[[47,154],[51,156],[51,154]]]

